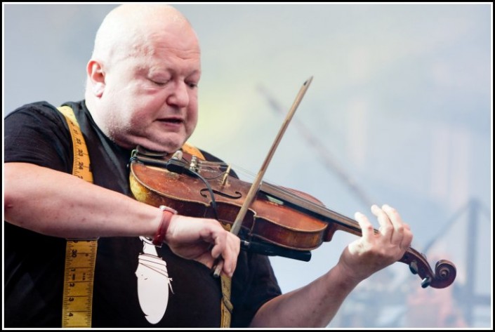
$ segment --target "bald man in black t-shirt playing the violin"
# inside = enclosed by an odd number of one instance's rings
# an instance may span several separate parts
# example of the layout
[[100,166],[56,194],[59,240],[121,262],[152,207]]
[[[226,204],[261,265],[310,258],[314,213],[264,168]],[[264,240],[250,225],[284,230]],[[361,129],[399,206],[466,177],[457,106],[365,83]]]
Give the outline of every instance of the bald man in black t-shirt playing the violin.
[[115,8],[86,69],[85,100],[67,105],[88,145],[93,184],[71,175],[70,130],[53,105],[25,105],[5,120],[6,326],[60,326],[66,239],[98,238],[93,327],[220,326],[216,263],[232,277],[232,327],[326,326],[360,281],[411,244],[400,215],[373,206],[380,232],[357,213],[363,236],[338,264],[282,295],[268,258],[239,251],[218,221],[171,215],[129,189],[131,150],[172,154],[197,124],[200,50],[183,15],[161,5]]

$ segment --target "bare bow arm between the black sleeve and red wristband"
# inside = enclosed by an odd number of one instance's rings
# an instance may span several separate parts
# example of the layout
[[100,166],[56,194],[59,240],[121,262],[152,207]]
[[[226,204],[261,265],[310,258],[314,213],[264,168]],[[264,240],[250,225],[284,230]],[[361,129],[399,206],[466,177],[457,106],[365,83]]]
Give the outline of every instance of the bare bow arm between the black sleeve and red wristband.
[[159,209],[73,175],[6,163],[5,219],[55,237],[152,236]]

